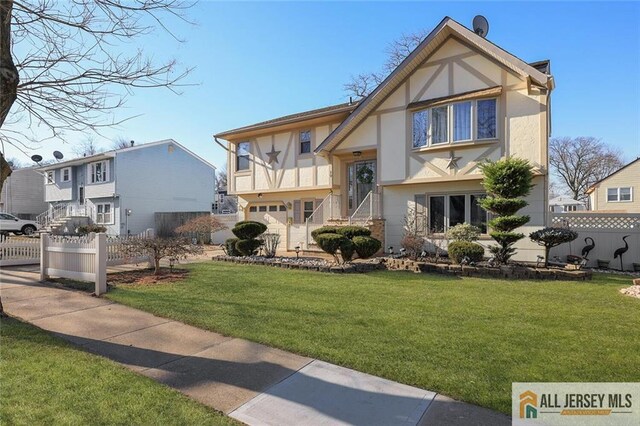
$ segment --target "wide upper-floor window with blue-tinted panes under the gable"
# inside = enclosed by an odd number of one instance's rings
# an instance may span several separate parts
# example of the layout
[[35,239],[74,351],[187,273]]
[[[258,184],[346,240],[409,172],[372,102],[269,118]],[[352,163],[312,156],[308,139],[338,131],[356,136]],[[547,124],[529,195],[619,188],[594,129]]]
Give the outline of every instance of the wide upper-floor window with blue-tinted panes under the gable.
[[413,148],[497,138],[497,99],[477,99],[414,111]]

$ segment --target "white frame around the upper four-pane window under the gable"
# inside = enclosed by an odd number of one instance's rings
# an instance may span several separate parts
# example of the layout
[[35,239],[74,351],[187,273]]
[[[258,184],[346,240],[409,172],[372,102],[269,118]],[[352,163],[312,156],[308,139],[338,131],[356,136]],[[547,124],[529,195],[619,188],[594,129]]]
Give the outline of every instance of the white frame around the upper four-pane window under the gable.
[[[479,138],[478,137],[478,101],[486,101],[486,100],[494,100],[496,104],[496,135],[490,138]],[[470,136],[471,139],[461,139],[454,140],[454,105],[463,104],[463,103],[471,103],[471,111],[470,111]],[[433,142],[433,110],[435,108],[447,108],[447,140],[445,142]],[[465,146],[473,146],[477,144],[485,144],[485,143],[495,143],[500,140],[500,97],[499,96],[489,96],[489,97],[478,97],[478,98],[470,98],[470,99],[461,99],[461,100],[452,100],[448,103],[437,103],[434,105],[429,105],[427,107],[422,108],[408,108],[407,111],[410,113],[409,120],[411,121],[411,133],[408,135],[409,137],[409,145],[411,146],[412,151],[429,151],[429,150],[437,150],[443,148],[451,148],[453,146],[456,147],[465,147]],[[421,146],[413,146],[414,141],[414,132],[415,132],[415,114],[427,111],[427,129],[426,129],[426,142]]]

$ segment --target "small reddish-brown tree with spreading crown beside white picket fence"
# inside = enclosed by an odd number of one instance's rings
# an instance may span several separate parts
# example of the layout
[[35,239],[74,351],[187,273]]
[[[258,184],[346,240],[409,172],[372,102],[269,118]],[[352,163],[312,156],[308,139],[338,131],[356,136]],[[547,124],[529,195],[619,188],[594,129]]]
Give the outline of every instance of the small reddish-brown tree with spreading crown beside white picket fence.
[[124,249],[129,257],[151,256],[155,275],[160,275],[160,261],[164,258],[180,260],[204,252],[202,246],[189,244],[184,238],[131,238],[124,242]]

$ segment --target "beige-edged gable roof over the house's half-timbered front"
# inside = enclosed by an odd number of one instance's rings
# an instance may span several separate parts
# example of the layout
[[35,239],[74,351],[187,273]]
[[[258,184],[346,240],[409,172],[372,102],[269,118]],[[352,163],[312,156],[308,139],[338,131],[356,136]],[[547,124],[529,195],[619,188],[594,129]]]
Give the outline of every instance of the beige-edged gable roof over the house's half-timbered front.
[[548,69],[548,64],[544,65],[545,61],[529,65],[447,16],[378,87],[358,104],[358,107],[329,134],[314,152],[331,151],[335,148],[451,35],[467,41],[504,67],[523,78],[530,79],[532,83],[548,89],[553,88],[553,78],[540,71],[540,69]]

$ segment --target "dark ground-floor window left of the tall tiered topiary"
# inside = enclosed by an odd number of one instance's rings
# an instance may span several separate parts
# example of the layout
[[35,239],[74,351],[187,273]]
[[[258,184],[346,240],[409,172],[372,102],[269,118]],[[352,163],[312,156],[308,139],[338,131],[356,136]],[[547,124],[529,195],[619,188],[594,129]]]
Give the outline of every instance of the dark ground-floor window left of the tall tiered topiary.
[[429,231],[441,234],[452,226],[469,223],[487,233],[487,212],[480,207],[484,194],[432,195],[429,197]]

